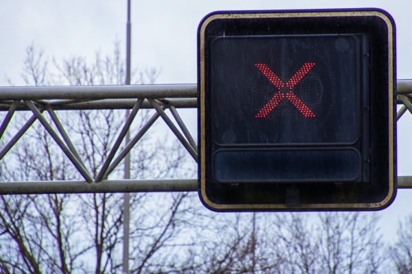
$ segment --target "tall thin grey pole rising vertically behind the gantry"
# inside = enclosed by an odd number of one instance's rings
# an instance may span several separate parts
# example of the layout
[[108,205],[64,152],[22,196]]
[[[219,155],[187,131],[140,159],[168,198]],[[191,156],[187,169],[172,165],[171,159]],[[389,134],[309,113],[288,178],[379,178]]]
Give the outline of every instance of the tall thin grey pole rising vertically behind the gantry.
[[[130,85],[130,0],[127,1],[127,23],[126,23],[126,85]],[[126,120],[129,110],[126,110]],[[130,133],[126,134],[126,144],[129,142]],[[130,154],[124,158],[124,179],[130,179]],[[130,222],[130,195],[124,193],[123,203],[123,273],[128,273],[129,255],[129,222]]]

